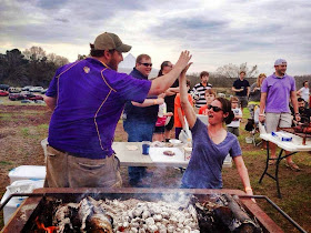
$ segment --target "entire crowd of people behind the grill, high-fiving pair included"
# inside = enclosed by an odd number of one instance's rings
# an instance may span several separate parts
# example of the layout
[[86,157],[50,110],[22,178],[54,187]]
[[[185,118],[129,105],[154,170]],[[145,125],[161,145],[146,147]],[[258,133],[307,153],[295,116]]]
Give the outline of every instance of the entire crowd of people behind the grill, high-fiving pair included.
[[[191,65],[189,51],[181,52],[174,64],[162,62],[152,81],[148,79],[152,69],[148,54],[138,55],[129,74],[119,73],[122,52],[130,49],[117,34],[104,32],[90,44],[89,58],[57,71],[44,98],[53,111],[44,186],[121,186],[120,164],[111,145],[123,111],[128,142],[165,142],[178,139],[181,130],[189,126],[193,149],[181,188],[221,189],[222,164],[230,154],[245,192],[252,194],[237,138],[243,109],[249,107],[252,118],[257,110],[258,121],[265,123],[268,133],[300,123],[301,119],[310,122],[308,82],[297,92],[283,59],[274,62],[273,74],[267,78],[261,73],[252,85],[245,80],[245,71],[241,71],[232,84],[234,97],[229,101],[217,95],[207,71],[200,73],[201,82],[190,89],[185,78]],[[89,98],[77,94],[81,92]],[[297,94],[301,98],[297,99]],[[207,115],[207,124],[198,118],[200,114]],[[275,145],[270,146],[275,159]],[[300,170],[291,156],[287,158],[287,165]],[[128,173],[132,186],[143,186],[143,178],[152,176],[142,166],[129,166]]]

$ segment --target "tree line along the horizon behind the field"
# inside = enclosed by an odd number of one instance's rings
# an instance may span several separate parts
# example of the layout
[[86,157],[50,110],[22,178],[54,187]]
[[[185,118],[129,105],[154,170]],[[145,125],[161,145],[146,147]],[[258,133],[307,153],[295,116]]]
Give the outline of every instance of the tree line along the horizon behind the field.
[[[78,54],[78,60],[84,59],[86,55]],[[69,63],[68,59],[56,53],[49,53],[40,47],[31,47],[24,51],[19,49],[8,50],[4,54],[0,53],[0,83],[11,87],[41,85],[49,87],[57,69]],[[254,83],[259,75],[258,65],[248,65],[247,62],[237,64],[224,64],[210,73],[209,82],[214,88],[230,88],[235,79],[239,78],[240,71],[245,71],[247,80],[250,84]],[[270,75],[270,74],[268,74]],[[303,81],[311,83],[311,74],[294,77],[297,89],[302,87]],[[199,73],[188,75],[191,87],[199,83]]]

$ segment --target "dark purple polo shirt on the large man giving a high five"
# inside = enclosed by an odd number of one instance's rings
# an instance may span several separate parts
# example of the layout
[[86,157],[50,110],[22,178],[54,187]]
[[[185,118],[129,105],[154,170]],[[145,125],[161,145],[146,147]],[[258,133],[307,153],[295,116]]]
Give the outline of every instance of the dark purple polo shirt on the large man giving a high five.
[[92,58],[60,68],[46,93],[57,98],[49,144],[89,159],[111,155],[124,103],[143,102],[150,88],[151,81],[118,73]]

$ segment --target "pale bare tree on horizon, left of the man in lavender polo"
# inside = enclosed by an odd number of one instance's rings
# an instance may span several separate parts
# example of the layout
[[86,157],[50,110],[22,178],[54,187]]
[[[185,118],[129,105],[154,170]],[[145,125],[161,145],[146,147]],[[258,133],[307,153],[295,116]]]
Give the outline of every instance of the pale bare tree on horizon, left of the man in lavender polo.
[[245,71],[247,78],[254,78],[258,73],[258,65],[249,68],[247,62],[240,65],[229,63],[217,69],[219,75],[227,78],[238,78],[241,71]]

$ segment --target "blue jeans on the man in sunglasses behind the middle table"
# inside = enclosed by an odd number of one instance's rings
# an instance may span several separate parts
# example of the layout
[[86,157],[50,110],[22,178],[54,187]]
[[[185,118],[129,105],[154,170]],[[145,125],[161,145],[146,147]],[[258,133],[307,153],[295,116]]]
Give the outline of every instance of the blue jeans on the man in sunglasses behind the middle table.
[[[154,131],[156,122],[143,122],[141,120],[124,120],[123,128],[128,133],[128,142],[142,142],[152,141],[152,134]],[[137,184],[141,182],[141,179],[146,174],[146,166],[129,166],[130,184]]]

